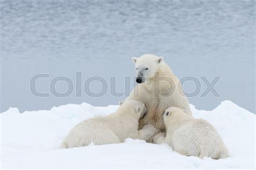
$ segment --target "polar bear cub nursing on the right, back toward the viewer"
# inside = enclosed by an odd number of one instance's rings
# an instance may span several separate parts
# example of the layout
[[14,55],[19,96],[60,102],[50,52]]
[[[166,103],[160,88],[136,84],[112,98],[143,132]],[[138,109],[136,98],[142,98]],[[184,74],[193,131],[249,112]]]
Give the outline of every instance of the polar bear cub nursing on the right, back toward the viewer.
[[227,158],[228,150],[215,128],[203,119],[195,119],[177,107],[167,108],[164,112],[166,137],[158,133],[153,142],[167,143],[173,150],[199,158]]

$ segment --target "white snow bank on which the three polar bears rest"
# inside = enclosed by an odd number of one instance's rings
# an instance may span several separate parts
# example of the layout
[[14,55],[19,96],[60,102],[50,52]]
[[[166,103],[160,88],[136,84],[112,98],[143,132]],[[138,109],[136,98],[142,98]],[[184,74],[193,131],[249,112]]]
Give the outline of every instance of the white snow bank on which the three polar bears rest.
[[126,139],[110,144],[59,149],[69,130],[84,119],[105,116],[118,105],[93,107],[82,103],[25,111],[10,108],[1,114],[2,168],[254,168],[255,115],[231,101],[212,111],[197,110],[194,117],[212,123],[231,156],[226,159],[185,157],[166,144]]

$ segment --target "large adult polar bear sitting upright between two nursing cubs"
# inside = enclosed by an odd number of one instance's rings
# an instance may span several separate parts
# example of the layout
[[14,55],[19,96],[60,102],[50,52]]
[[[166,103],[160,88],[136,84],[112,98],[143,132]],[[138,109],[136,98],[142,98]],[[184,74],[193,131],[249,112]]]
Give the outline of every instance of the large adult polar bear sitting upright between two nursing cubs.
[[132,58],[139,83],[126,100],[137,100],[148,109],[147,115],[140,119],[139,128],[152,124],[159,131],[165,129],[163,112],[169,107],[178,107],[191,115],[188,100],[183,93],[179,79],[164,62],[163,57],[152,54]]

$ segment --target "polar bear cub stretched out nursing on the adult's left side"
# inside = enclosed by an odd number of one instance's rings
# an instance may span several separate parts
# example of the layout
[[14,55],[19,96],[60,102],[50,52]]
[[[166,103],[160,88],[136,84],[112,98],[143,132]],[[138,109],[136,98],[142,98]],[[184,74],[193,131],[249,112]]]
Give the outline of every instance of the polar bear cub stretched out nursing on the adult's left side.
[[116,112],[105,117],[87,119],[76,125],[64,139],[61,148],[122,143],[126,138],[149,140],[156,133],[152,125],[138,130],[139,118],[147,112],[138,101],[126,101]]

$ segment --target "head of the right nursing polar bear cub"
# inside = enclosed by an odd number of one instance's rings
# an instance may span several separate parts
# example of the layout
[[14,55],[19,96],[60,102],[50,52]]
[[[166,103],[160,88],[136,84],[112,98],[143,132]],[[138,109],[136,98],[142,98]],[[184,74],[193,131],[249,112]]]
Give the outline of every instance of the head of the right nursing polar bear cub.
[[164,113],[164,123],[167,125],[171,121],[177,121],[178,119],[188,116],[186,110],[177,107],[167,108]]

